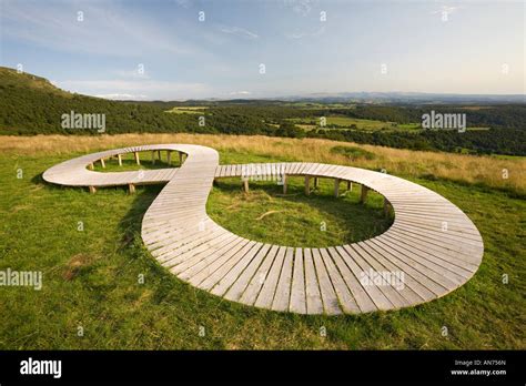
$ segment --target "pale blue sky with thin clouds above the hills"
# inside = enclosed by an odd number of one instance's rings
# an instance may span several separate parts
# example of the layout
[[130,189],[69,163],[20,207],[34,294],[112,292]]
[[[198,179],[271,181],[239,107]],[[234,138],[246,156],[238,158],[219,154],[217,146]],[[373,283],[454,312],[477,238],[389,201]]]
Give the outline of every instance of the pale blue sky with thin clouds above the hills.
[[109,99],[524,94],[524,1],[0,0],[0,64]]

